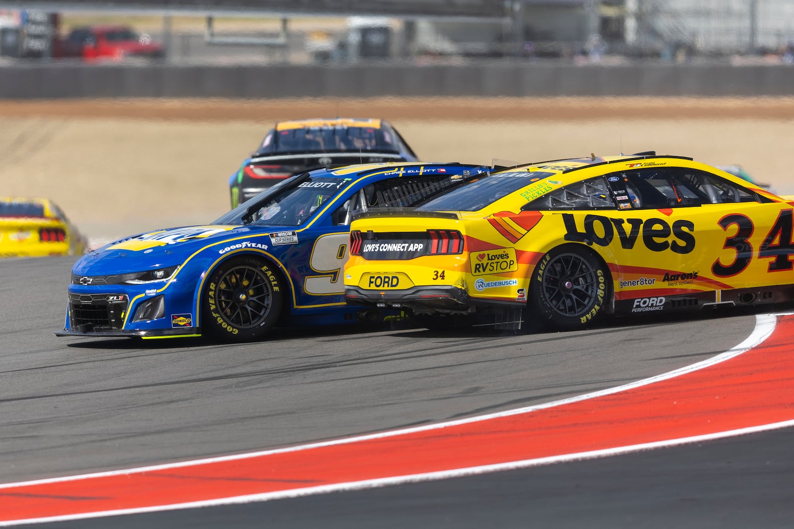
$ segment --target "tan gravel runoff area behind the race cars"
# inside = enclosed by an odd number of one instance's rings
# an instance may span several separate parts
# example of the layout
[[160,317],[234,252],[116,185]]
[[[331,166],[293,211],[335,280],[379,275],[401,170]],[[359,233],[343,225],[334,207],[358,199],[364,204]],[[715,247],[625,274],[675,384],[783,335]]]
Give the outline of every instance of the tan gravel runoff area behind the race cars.
[[524,163],[656,150],[794,194],[794,98],[0,101],[2,195],[50,197],[92,240],[210,222],[273,121],[384,117],[421,159]]

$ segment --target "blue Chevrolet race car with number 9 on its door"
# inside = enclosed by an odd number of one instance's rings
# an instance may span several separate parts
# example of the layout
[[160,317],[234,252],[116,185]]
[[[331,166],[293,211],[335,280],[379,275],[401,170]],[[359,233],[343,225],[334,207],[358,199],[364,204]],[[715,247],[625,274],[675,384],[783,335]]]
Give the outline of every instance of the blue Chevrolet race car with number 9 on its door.
[[56,335],[249,341],[276,324],[376,320],[378,311],[345,305],[353,213],[415,205],[487,171],[457,163],[306,171],[212,224],[117,240],[75,263]]

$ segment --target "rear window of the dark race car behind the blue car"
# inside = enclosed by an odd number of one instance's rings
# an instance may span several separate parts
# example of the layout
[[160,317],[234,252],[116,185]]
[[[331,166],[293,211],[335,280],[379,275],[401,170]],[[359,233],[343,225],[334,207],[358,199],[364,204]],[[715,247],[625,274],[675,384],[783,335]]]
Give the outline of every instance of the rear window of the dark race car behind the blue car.
[[322,127],[272,129],[256,154],[299,154],[303,152],[398,152],[397,139],[387,128]]

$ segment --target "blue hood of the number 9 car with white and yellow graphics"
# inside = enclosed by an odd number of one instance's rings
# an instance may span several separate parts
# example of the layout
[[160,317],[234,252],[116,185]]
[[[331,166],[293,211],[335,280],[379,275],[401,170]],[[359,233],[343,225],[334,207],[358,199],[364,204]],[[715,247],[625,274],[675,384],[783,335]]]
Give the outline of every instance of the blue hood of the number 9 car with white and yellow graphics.
[[276,229],[285,228],[206,225],[146,232],[90,251],[75,263],[72,272],[91,276],[125,274],[174,266],[182,264],[195,251],[213,243],[246,235],[262,235]]

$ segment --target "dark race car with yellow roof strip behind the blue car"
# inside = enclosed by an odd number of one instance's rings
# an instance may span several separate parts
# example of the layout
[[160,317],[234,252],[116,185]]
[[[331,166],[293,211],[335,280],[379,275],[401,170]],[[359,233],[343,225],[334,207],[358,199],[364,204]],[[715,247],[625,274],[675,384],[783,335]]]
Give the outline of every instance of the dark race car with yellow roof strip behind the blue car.
[[414,151],[387,121],[279,121],[229,178],[232,207],[302,171],[353,163],[414,162]]

